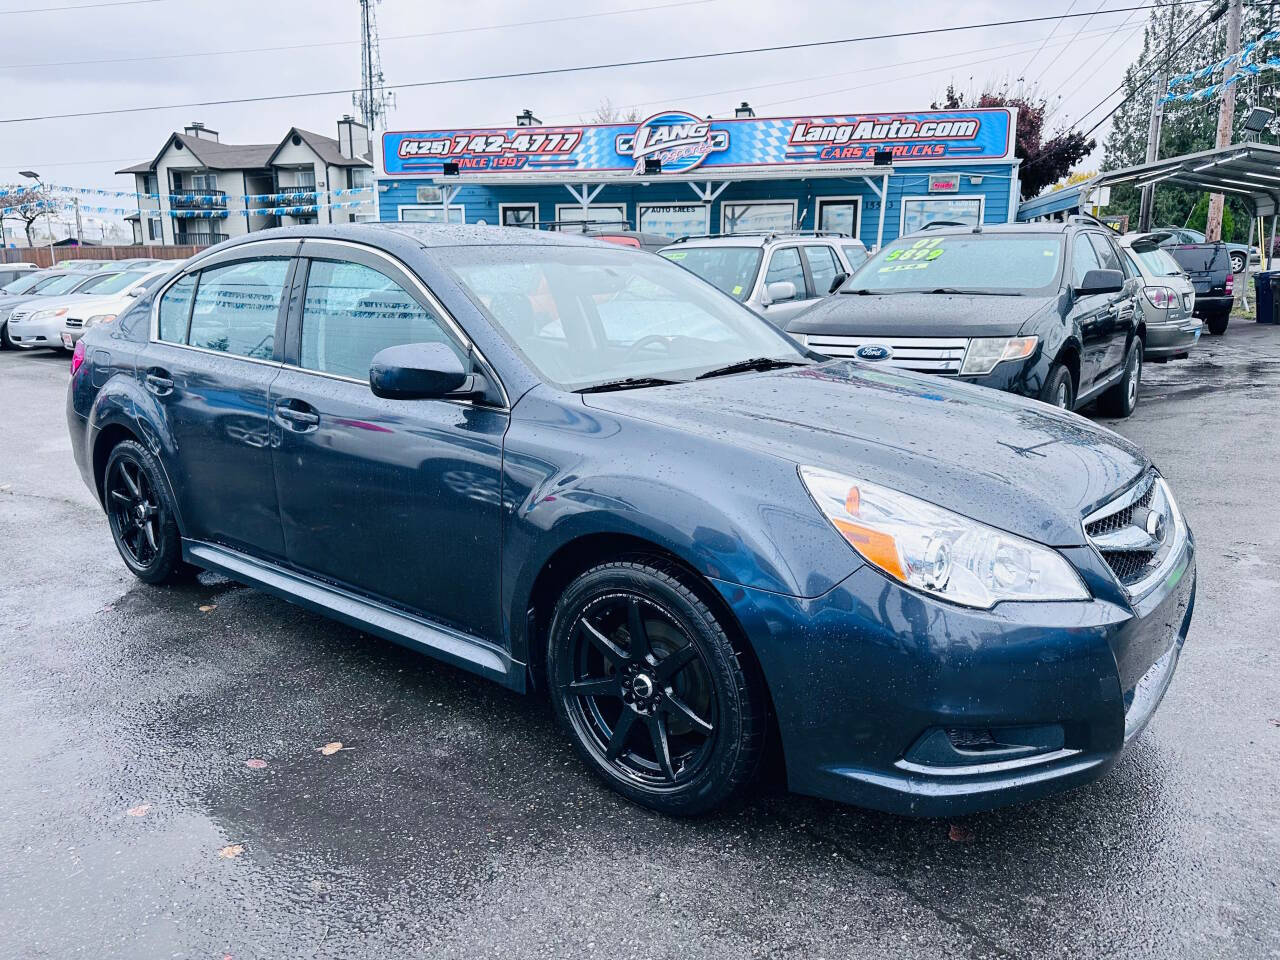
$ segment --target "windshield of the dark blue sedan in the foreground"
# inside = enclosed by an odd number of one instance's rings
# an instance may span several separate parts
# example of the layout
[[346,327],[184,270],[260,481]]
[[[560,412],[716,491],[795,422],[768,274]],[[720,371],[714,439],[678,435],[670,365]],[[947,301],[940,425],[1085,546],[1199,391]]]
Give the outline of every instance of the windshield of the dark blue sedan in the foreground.
[[548,381],[690,380],[808,358],[768,321],[662,257],[611,247],[449,247],[435,256]]

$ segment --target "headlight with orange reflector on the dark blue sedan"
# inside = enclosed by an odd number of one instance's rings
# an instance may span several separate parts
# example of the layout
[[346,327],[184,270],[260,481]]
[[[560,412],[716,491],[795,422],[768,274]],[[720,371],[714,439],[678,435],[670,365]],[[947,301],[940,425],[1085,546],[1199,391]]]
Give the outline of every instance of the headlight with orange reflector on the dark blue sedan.
[[1089,599],[1071,564],[1048,547],[819,467],[800,467],[800,479],[863,559],[915,590],[980,609],[1001,600]]

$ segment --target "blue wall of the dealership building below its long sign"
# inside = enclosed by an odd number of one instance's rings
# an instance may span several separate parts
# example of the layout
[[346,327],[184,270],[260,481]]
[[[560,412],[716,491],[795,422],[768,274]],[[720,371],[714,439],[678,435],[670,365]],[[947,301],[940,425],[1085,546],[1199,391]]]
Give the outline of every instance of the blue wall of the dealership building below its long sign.
[[[983,223],[1007,223],[1010,216],[1010,189],[1012,187],[1012,164],[986,164],[980,166],[911,166],[890,177],[888,207],[884,211],[884,242],[899,236],[902,221],[902,200],[905,197],[931,197],[948,200],[959,197],[983,198]],[[954,174],[959,177],[960,188],[955,193],[929,193],[929,174]],[[978,183],[973,183],[979,178]],[[433,180],[430,178],[383,178],[379,182],[379,215],[383,220],[399,220],[402,206],[421,206],[417,202],[417,187],[430,183],[458,183],[458,180]],[[575,184],[576,186],[576,184]],[[721,207],[731,201],[794,200],[797,201],[797,227],[814,229],[815,201],[819,197],[861,198],[859,237],[867,246],[876,242],[879,223],[879,198],[860,177],[831,177],[796,180],[742,180],[730,183],[712,202],[710,232],[721,230]],[[538,204],[538,219],[550,221],[557,219],[557,205],[573,205],[575,200],[562,184],[538,186],[468,186],[463,182],[451,206],[465,210],[467,223],[484,220],[490,225],[499,223],[499,204]],[[599,204],[623,204],[627,219],[636,223],[637,204],[696,204],[698,196],[687,183],[650,180],[644,186],[639,180],[627,184],[609,184],[591,201]],[[1016,207],[1015,207],[1016,209]]]

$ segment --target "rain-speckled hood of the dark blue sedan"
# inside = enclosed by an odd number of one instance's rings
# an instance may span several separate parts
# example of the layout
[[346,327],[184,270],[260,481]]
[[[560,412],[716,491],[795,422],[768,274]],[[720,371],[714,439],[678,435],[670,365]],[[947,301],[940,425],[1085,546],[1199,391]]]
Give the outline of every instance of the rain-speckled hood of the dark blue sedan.
[[1142,451],[1037,401],[856,361],[588,394],[598,410],[920,497],[1050,544],[1149,467]]

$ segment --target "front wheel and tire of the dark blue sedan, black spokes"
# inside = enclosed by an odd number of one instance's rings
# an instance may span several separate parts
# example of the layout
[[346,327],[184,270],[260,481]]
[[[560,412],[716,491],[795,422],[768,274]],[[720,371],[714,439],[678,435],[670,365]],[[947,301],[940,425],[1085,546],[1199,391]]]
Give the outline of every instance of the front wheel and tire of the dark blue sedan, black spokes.
[[677,817],[749,782],[765,731],[759,677],[691,584],[657,558],[594,567],[556,604],[547,650],[556,714],[584,763]]

